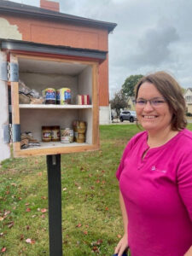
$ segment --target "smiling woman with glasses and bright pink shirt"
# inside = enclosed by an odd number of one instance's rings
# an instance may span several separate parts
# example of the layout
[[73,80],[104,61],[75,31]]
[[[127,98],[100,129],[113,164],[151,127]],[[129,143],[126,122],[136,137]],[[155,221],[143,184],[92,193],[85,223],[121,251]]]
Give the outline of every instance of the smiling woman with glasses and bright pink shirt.
[[127,144],[118,171],[125,234],[114,253],[192,255],[192,132],[185,102],[168,73],[136,86],[137,119],[145,131]]

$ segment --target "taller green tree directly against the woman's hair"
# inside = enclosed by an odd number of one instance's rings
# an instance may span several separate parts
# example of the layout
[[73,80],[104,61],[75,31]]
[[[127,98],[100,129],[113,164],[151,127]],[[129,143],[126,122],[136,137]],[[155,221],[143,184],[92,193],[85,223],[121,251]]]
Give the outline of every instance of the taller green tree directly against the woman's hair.
[[131,75],[125,79],[125,83],[122,85],[122,90],[125,96],[134,96],[134,87],[140,79],[143,78],[142,74]]

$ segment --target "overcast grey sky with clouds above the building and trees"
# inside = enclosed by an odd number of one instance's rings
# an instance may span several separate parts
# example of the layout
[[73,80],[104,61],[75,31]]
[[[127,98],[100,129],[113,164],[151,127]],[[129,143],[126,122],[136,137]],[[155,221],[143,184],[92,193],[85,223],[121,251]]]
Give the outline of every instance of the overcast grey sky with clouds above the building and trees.
[[[13,0],[12,0],[13,1]],[[39,0],[15,0],[39,6]],[[131,74],[164,70],[192,87],[191,0],[55,0],[62,13],[117,23],[109,34],[110,96]]]

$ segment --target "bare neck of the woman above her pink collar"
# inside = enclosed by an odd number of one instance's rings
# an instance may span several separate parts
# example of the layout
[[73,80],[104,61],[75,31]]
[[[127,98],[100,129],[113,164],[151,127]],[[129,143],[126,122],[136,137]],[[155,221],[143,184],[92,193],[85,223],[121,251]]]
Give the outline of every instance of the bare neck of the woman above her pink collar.
[[171,126],[161,131],[148,131],[148,146],[150,148],[160,147],[175,137],[177,133],[178,131],[172,131]]

